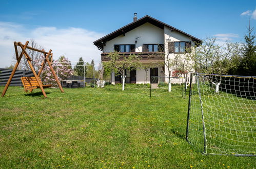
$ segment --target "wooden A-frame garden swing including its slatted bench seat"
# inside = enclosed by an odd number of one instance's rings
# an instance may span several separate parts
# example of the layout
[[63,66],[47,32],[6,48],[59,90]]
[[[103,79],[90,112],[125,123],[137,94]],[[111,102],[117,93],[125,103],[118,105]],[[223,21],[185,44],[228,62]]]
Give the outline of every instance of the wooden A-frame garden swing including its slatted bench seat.
[[[11,73],[11,76],[10,76],[8,82],[6,83],[6,86],[5,86],[5,89],[4,89],[3,93],[2,93],[2,96],[5,95],[8,87],[9,87],[9,85],[11,83],[12,77],[14,76],[14,73],[17,70],[18,64],[19,64],[19,62],[21,62],[21,59],[22,59],[23,55],[25,55],[25,57],[26,57],[26,59],[28,61],[28,64],[29,64],[29,66],[30,66],[30,68],[31,68],[31,70],[32,70],[32,72],[34,74],[34,77],[22,77],[21,78],[23,86],[24,86],[24,90],[26,92],[27,91],[32,92],[34,89],[40,88],[42,93],[43,93],[43,95],[45,97],[47,97],[46,93],[44,91],[44,88],[50,88],[52,85],[43,85],[43,83],[41,81],[41,78],[40,78],[40,75],[41,75],[41,73],[42,73],[42,71],[43,71],[43,69],[45,67],[46,62],[48,63],[48,65],[49,65],[49,67],[51,69],[51,72],[52,72],[52,74],[53,74],[53,76],[54,76],[54,78],[55,78],[55,80],[56,80],[56,82],[58,84],[58,87],[60,88],[61,92],[64,92],[63,89],[62,89],[61,83],[60,83],[60,81],[58,81],[58,77],[57,77],[57,75],[55,74],[55,72],[54,72],[54,70],[52,68],[52,53],[51,53],[52,50],[50,49],[49,52],[46,52],[45,50],[35,49],[35,48],[32,48],[32,47],[29,47],[28,43],[29,43],[29,41],[27,41],[26,44],[23,45],[21,42],[16,43],[16,41],[14,41],[14,49],[15,49],[15,55],[16,55],[17,62],[16,62],[16,65],[14,66],[14,68],[12,70],[12,73]],[[21,54],[19,56],[18,56],[17,46],[21,47],[21,49],[22,49],[22,52],[21,52]],[[30,56],[26,52],[26,49],[30,49],[30,50],[33,50],[33,51],[36,51],[36,52],[41,52],[45,56],[45,59],[43,60],[43,62],[41,64],[41,68],[40,68],[38,74],[36,74],[32,64],[31,64],[32,59],[30,58]],[[51,56],[51,61],[49,60],[49,56]]]

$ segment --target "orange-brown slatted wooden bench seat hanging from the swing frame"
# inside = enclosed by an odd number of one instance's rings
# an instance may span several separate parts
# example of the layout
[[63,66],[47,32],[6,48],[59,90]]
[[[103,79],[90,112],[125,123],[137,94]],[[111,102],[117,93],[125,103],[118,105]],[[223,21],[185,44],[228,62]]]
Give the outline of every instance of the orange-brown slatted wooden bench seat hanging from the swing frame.
[[[38,82],[36,81],[35,77],[22,77],[21,80],[22,80],[22,83],[23,83],[23,86],[24,86],[24,90],[26,92],[28,90],[30,90],[30,92],[32,92],[33,89],[40,88],[40,86],[39,86]],[[52,85],[43,85],[40,78],[39,78],[39,82],[43,86],[44,89],[52,87]]]

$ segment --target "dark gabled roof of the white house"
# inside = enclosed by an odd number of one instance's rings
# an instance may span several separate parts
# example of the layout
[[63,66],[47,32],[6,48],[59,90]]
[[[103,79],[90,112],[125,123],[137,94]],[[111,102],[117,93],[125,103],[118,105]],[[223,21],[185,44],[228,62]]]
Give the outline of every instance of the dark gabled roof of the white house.
[[136,21],[134,21],[134,22],[132,22],[132,23],[130,23],[130,24],[120,28],[120,29],[117,29],[116,31],[114,31],[114,32],[112,32],[112,33],[110,33],[110,34],[108,34],[108,35],[106,35],[106,36],[104,36],[104,37],[94,41],[93,44],[95,46],[97,46],[99,49],[103,50],[103,46],[105,45],[105,43],[107,41],[109,41],[109,40],[111,40],[111,39],[113,39],[113,38],[115,38],[117,36],[120,36],[122,34],[125,34],[126,32],[129,32],[130,30],[132,30],[132,29],[134,29],[136,27],[139,27],[139,26],[141,26],[141,25],[143,25],[145,23],[150,23],[150,24],[152,24],[152,25],[154,25],[156,27],[159,27],[161,29],[164,29],[164,26],[169,27],[170,29],[173,29],[175,31],[178,31],[180,33],[183,33],[183,34],[191,37],[192,40],[195,41],[196,43],[202,44],[202,40],[201,39],[196,38],[196,37],[194,37],[194,36],[192,36],[190,34],[187,34],[187,33],[183,32],[183,31],[181,31],[179,29],[176,29],[176,28],[174,28],[174,27],[172,27],[172,26],[170,26],[168,24],[165,24],[165,23],[161,22],[160,20],[157,20],[157,19],[155,19],[155,18],[153,18],[151,16],[148,16],[148,15],[146,15],[146,16],[140,18],[140,19],[137,19]]

